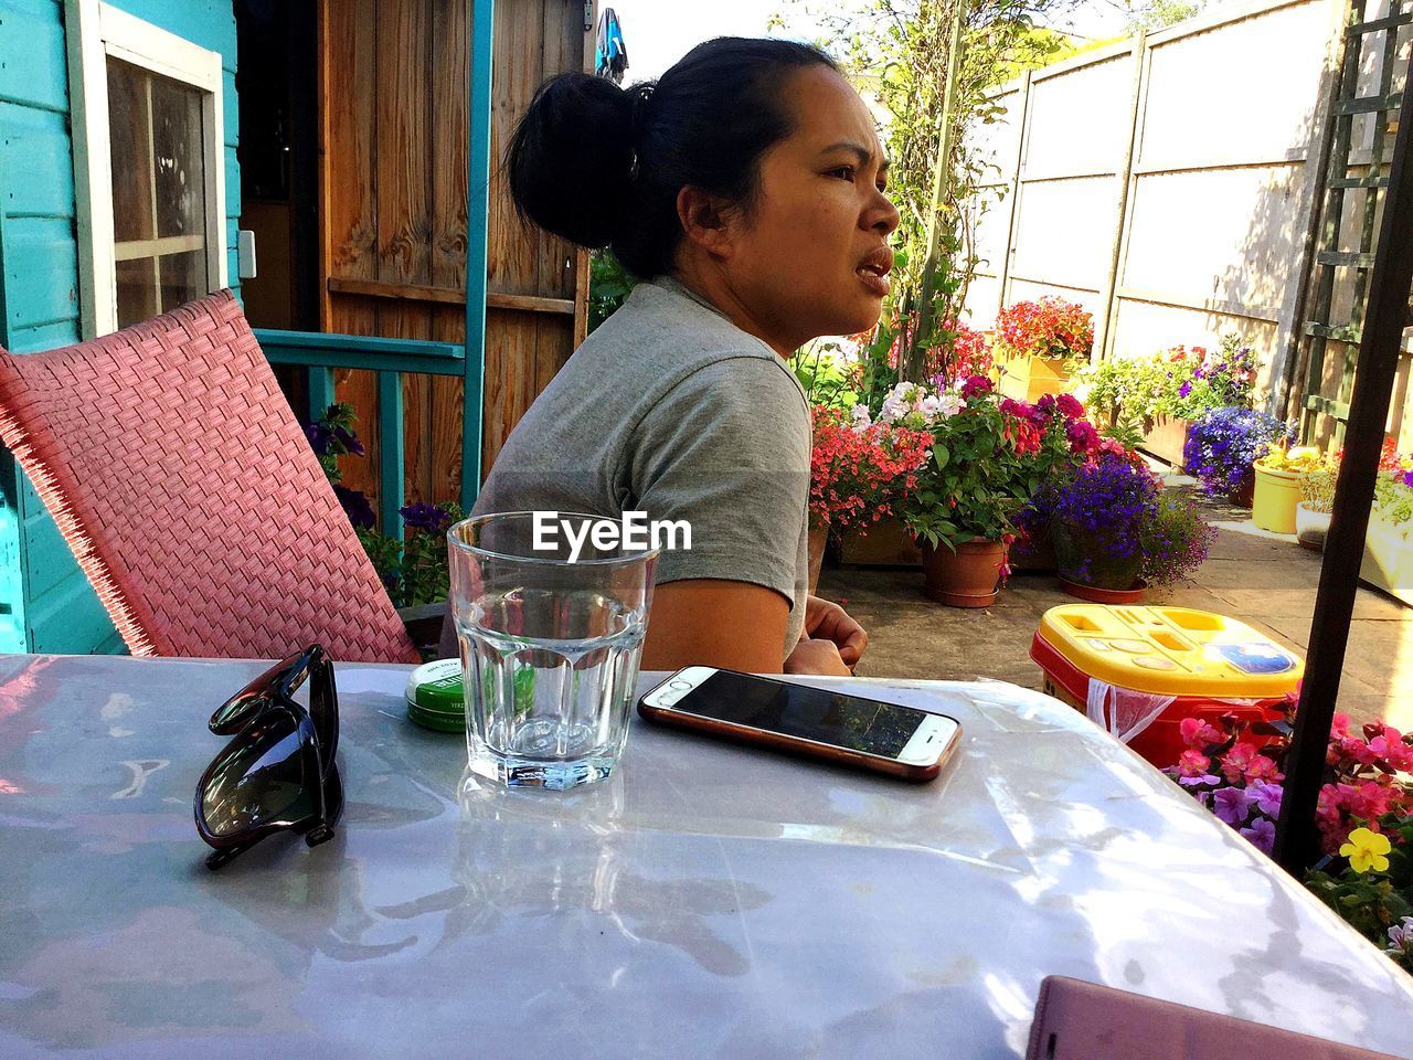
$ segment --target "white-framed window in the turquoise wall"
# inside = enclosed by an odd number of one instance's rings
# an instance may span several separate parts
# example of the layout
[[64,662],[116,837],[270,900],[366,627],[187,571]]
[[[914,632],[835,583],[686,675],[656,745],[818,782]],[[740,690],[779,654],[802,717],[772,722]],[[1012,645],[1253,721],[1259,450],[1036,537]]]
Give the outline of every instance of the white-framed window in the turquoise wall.
[[103,335],[226,284],[220,54],[100,0],[66,11],[83,334]]

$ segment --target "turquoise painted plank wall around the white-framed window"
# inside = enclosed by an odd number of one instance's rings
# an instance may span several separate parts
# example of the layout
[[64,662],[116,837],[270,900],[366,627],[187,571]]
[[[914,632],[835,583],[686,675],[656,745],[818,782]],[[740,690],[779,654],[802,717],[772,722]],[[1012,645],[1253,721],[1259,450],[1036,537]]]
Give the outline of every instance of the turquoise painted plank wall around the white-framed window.
[[[236,285],[240,171],[232,3],[112,1],[220,52],[226,247],[230,283]],[[17,353],[62,346],[79,336],[73,144],[59,0],[0,0],[0,342]],[[0,652],[122,647],[44,505],[0,449]]]

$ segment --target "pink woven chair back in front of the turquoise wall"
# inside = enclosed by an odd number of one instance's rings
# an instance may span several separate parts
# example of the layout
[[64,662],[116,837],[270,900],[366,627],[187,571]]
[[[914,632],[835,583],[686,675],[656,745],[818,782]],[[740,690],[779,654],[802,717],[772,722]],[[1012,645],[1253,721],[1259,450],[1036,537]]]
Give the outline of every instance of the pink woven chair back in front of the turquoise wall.
[[229,291],[0,351],[0,440],[134,656],[418,661]]

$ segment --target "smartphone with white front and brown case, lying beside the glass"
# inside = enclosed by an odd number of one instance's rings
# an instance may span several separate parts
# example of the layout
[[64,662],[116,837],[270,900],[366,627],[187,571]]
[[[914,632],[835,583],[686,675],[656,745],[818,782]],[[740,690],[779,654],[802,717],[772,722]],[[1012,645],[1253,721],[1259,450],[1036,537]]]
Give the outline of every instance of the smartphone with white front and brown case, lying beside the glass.
[[637,701],[647,721],[760,743],[904,780],[931,780],[957,748],[962,726],[945,714],[688,666]]

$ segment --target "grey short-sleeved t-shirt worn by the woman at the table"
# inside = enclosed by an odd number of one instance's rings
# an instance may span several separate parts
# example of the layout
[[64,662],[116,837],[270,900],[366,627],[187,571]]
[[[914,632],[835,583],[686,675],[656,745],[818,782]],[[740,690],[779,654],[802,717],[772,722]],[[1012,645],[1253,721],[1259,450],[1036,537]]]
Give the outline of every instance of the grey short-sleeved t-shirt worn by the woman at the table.
[[[810,406],[788,363],[671,277],[639,284],[506,440],[472,514],[685,519],[656,584],[725,578],[808,594]],[[784,657],[781,656],[781,659]]]

